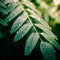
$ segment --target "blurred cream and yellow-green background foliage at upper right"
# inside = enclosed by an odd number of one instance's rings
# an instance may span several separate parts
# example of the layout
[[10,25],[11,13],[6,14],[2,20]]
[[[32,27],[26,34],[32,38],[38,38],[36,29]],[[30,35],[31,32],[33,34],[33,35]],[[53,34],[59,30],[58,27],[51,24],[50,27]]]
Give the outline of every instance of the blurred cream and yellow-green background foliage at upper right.
[[60,41],[60,0],[30,0]]

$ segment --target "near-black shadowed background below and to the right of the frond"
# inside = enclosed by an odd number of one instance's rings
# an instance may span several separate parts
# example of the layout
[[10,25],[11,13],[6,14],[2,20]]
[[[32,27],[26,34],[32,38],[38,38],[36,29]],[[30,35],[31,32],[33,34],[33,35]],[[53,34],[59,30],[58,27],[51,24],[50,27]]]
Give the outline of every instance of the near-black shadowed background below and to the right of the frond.
[[[58,43],[60,44],[60,24],[56,24],[56,28],[54,29],[54,33],[57,35],[59,38]],[[32,51],[32,53],[26,57],[24,56],[24,47],[25,47],[25,37],[21,39],[20,41],[14,43],[13,38],[15,34],[10,34],[8,29],[10,28],[9,26],[7,28],[2,28],[3,30],[3,35],[4,37],[0,40],[0,57],[2,60],[4,59],[21,59],[22,57],[25,59],[29,58],[39,58],[40,60],[44,60],[40,49],[39,49],[39,41],[35,47],[35,49]],[[6,32],[7,31],[7,32]],[[23,59],[22,58],[22,59]],[[31,58],[31,59],[32,59]],[[56,50],[56,58],[57,60],[60,60],[60,51]]]

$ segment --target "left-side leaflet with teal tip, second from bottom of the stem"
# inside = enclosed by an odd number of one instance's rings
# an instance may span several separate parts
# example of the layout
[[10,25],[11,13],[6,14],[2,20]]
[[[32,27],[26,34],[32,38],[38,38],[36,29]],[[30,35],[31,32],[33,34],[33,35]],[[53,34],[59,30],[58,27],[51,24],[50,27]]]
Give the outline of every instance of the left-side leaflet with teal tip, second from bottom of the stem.
[[31,25],[30,24],[25,24],[23,25],[18,31],[17,31],[17,34],[15,35],[14,37],[14,42],[20,40],[21,38],[23,38],[27,33],[28,31],[31,29]]

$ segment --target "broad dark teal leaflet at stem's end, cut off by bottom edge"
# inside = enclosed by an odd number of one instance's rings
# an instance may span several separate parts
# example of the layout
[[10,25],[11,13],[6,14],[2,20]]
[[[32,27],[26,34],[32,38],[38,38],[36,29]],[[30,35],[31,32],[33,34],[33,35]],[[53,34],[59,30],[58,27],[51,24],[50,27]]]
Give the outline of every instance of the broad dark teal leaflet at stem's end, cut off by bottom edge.
[[56,60],[53,46],[47,42],[41,42],[40,49],[45,60]]

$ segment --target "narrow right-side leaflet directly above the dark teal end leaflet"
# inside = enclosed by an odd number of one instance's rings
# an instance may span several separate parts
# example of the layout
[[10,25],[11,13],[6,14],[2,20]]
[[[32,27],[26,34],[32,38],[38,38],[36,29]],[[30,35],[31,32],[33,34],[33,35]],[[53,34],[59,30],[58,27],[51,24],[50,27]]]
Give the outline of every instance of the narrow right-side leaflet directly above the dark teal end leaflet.
[[55,48],[60,50],[60,45],[57,43],[57,41],[51,37],[51,35],[47,35],[45,33],[41,33],[41,35],[49,42],[51,43]]

